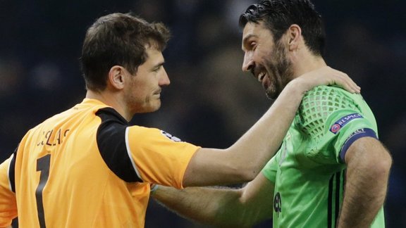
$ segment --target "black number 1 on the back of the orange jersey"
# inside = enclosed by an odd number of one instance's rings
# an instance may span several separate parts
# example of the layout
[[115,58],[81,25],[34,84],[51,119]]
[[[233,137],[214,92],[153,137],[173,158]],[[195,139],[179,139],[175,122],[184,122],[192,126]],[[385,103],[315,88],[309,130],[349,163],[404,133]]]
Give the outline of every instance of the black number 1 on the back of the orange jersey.
[[47,184],[49,177],[49,164],[51,163],[51,155],[47,154],[42,158],[37,159],[37,171],[41,171],[39,175],[39,184],[37,190],[35,191],[35,196],[37,198],[37,211],[39,227],[45,228],[45,216],[44,216],[44,205],[42,203],[42,190],[45,184]]

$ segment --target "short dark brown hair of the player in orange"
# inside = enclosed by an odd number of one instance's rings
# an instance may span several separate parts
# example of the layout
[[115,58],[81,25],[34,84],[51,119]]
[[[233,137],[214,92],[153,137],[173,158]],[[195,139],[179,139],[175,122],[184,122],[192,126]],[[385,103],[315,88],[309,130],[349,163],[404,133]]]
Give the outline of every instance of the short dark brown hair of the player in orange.
[[163,51],[169,37],[170,32],[162,23],[147,23],[130,13],[98,18],[86,32],[80,57],[86,88],[104,90],[113,65],[122,65],[134,74],[147,60],[145,47]]

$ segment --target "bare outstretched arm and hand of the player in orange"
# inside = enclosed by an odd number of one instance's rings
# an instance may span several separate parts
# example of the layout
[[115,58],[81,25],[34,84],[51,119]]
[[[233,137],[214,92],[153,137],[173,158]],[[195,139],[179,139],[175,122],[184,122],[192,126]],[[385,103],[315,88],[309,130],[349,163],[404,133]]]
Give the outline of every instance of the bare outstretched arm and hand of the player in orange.
[[359,92],[350,77],[329,67],[297,77],[233,146],[224,150],[199,149],[186,169],[183,186],[234,184],[254,179],[281,145],[303,95],[322,84],[338,84],[348,91]]

